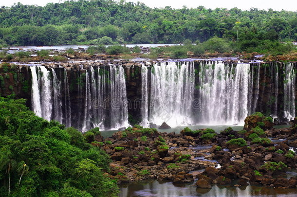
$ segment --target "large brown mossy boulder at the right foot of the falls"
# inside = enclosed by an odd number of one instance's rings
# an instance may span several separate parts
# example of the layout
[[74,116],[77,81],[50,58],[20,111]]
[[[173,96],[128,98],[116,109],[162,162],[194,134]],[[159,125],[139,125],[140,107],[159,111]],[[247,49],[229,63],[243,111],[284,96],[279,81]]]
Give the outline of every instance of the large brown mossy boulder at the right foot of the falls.
[[270,116],[265,117],[261,112],[255,112],[245,118],[244,130],[249,131],[256,126],[259,126],[263,130],[270,129],[273,127],[273,119]]

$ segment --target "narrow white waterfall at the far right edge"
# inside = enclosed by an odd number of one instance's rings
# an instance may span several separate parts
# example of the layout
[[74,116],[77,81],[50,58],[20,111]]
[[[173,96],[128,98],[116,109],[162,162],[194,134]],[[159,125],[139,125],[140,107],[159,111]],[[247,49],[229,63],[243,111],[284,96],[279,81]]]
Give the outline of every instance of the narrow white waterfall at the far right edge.
[[283,73],[284,78],[284,94],[283,94],[283,106],[284,117],[287,120],[293,120],[295,118],[295,85],[296,85],[296,73],[294,70],[294,64],[287,63],[284,65]]

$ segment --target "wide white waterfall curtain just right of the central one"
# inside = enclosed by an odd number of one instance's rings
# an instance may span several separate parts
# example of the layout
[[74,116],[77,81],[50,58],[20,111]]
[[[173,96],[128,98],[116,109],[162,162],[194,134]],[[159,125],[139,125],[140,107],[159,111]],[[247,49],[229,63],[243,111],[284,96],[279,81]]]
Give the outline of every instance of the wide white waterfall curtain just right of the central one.
[[243,124],[251,106],[248,95],[253,87],[250,65],[201,62],[199,99],[201,123],[211,125]]

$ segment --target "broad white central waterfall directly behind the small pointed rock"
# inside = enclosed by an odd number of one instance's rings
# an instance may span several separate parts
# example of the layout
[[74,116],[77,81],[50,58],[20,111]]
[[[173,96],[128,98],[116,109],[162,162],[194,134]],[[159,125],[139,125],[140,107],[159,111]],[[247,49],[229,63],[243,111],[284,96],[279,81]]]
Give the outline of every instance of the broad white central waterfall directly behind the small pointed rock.
[[146,68],[142,71],[143,119],[157,125],[163,122],[170,126],[193,124],[191,117],[195,81],[193,63],[162,62],[151,66],[149,96],[146,87],[148,72]]

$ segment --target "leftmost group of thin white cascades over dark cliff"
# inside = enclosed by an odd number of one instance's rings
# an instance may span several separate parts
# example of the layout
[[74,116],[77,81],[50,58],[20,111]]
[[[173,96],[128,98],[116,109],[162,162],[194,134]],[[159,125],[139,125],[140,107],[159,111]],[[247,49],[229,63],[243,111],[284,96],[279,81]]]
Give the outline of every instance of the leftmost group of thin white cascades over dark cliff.
[[[128,127],[125,72],[122,66],[84,69],[80,66],[72,91],[66,69],[30,67],[32,109],[46,120],[74,125],[85,132],[96,126],[101,130]],[[77,84],[77,85],[76,85]],[[75,93],[75,94],[74,94]],[[74,98],[74,99],[73,99]]]

